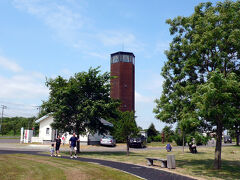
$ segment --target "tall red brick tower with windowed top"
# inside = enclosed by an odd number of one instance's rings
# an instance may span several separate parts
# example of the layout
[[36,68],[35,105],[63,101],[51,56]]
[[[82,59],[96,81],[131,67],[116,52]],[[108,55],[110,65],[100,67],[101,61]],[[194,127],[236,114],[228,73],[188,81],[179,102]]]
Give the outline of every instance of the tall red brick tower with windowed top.
[[135,56],[131,52],[111,54],[111,98],[121,101],[121,111],[135,111]]

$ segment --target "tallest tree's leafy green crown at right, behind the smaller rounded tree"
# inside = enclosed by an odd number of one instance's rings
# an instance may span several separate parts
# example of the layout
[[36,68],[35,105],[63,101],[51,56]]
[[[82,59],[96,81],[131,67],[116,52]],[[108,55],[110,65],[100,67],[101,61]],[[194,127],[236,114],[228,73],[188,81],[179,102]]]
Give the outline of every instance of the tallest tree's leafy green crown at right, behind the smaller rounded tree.
[[[217,69],[224,78],[232,72],[240,76],[239,12],[240,1],[218,2],[215,6],[208,2],[196,6],[189,17],[167,20],[174,38],[166,51],[168,61],[162,70],[165,82],[154,109],[158,119],[185,122],[181,124],[188,129],[213,127],[209,118],[199,116],[193,96]],[[219,156],[215,156],[215,162],[219,169]]]

